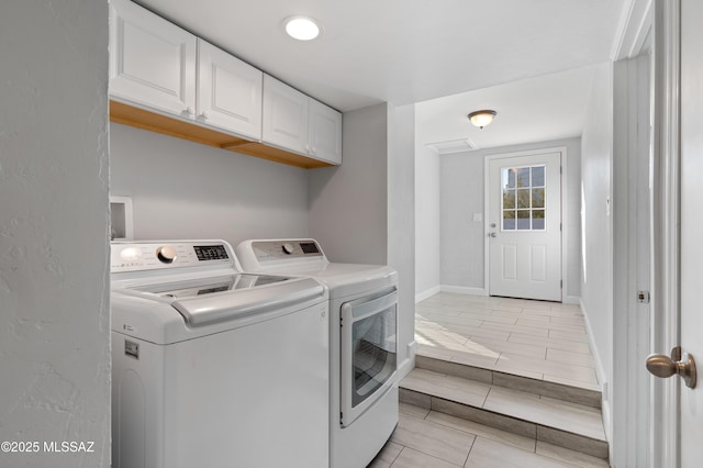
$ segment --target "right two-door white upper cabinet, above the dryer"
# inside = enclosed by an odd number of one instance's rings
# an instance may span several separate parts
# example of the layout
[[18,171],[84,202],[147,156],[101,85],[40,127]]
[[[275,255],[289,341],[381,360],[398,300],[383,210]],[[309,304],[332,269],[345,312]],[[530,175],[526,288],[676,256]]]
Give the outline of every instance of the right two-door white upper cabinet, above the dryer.
[[290,86],[264,76],[264,143],[342,164],[342,114]]

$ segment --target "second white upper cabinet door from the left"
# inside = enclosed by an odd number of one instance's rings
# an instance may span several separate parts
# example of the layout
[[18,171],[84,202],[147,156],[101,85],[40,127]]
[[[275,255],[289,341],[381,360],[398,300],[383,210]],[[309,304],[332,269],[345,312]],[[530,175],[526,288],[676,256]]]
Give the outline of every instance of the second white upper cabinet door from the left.
[[198,40],[198,121],[261,140],[263,80],[260,70]]

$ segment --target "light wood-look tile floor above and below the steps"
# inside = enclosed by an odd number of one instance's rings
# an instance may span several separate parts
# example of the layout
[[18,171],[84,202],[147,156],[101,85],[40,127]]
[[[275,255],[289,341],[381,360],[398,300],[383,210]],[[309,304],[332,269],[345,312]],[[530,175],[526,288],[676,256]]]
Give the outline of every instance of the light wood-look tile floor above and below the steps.
[[[600,390],[578,305],[442,292],[415,311],[419,355]],[[472,393],[462,391],[462,398],[484,398]],[[369,468],[607,466],[533,437],[401,403],[399,425]]]

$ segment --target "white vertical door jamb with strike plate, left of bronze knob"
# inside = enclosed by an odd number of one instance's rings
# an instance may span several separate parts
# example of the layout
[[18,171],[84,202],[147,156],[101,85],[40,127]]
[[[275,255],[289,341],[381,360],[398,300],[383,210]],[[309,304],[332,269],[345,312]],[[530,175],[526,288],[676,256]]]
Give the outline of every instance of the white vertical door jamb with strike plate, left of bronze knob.
[[647,40],[613,67],[613,361],[611,463],[650,463],[650,301],[638,291],[651,287],[652,45]]

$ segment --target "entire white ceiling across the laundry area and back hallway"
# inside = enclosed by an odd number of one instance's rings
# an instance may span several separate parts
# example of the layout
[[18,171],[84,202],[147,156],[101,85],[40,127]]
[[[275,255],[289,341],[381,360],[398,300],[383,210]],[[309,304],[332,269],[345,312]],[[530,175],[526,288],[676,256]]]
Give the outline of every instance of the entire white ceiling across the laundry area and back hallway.
[[[559,135],[543,140],[580,134],[592,66],[611,58],[632,0],[137,2],[341,111],[442,98],[417,108],[437,129],[426,141],[488,147],[534,137],[535,125]],[[322,36],[284,35],[295,14],[316,19]],[[476,134],[466,114],[482,107],[499,115]]]

